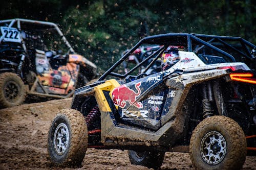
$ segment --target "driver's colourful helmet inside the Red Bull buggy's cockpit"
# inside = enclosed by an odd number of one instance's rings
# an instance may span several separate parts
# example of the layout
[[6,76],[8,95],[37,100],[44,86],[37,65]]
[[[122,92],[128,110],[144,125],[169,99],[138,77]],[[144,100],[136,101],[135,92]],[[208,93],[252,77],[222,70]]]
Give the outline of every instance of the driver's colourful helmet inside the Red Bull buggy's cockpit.
[[168,47],[164,51],[161,58],[162,71],[169,69],[180,60],[178,52],[178,48],[173,47]]

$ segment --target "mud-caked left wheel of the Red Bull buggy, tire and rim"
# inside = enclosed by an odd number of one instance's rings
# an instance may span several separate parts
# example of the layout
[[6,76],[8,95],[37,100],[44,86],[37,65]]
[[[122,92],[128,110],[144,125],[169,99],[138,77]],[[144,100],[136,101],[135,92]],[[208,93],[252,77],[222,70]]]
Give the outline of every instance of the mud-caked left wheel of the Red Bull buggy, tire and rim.
[[63,109],[54,118],[48,133],[48,154],[55,166],[77,167],[86,154],[88,131],[83,115]]

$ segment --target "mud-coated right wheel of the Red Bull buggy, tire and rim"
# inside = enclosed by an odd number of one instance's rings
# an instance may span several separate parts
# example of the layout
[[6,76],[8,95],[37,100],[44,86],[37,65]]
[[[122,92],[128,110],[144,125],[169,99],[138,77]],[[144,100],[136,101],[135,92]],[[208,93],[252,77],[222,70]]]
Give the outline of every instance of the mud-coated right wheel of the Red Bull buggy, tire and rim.
[[233,119],[212,116],[193,131],[189,154],[195,169],[241,169],[246,158],[246,139]]

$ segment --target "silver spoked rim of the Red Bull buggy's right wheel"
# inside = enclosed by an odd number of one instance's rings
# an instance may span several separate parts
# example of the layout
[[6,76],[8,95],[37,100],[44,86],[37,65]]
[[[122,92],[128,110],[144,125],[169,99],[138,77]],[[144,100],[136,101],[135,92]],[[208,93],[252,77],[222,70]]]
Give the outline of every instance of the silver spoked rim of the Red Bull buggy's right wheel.
[[215,165],[220,163],[226,155],[226,149],[226,140],[219,132],[208,132],[201,140],[201,156],[208,164]]

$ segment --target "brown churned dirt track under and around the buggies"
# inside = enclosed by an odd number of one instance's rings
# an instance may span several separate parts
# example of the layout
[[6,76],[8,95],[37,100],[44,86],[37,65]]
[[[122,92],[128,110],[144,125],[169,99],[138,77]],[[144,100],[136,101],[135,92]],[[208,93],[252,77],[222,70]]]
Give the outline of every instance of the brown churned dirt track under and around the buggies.
[[[47,158],[47,133],[58,110],[71,99],[25,104],[0,110],[0,169],[71,169],[52,167]],[[148,169],[132,165],[127,151],[88,149],[76,169]],[[160,169],[193,169],[188,154],[165,153]],[[256,169],[256,157],[247,156],[243,169]]]

